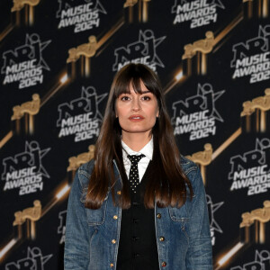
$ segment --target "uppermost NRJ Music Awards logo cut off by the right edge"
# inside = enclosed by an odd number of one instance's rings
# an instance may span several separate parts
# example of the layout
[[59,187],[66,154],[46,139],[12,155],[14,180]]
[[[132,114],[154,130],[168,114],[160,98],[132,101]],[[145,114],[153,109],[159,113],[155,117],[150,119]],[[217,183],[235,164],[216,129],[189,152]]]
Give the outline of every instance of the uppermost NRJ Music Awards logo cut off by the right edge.
[[249,83],[257,83],[270,78],[270,25],[259,25],[255,38],[232,46],[234,69],[232,78],[249,77]]

